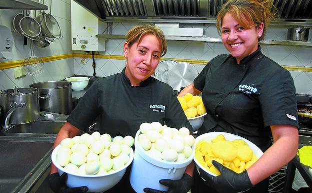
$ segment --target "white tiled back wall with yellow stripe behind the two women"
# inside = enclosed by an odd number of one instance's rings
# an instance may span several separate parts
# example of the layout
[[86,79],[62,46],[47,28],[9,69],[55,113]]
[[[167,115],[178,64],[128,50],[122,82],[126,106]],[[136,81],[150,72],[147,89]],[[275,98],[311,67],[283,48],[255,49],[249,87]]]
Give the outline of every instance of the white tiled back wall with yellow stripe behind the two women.
[[[113,23],[113,34],[126,34],[136,23]],[[204,35],[207,37],[219,38],[215,25],[213,24],[185,24],[180,25],[184,28],[203,28]],[[266,33],[266,40],[286,40],[287,27],[271,26]],[[309,41],[312,41],[312,32],[309,33]],[[106,42],[106,51],[102,54],[122,56],[122,45],[124,40],[108,40]],[[279,45],[261,45],[264,55],[268,56],[279,65],[312,67],[312,47],[305,46],[279,46]],[[228,53],[222,43],[208,43],[197,41],[167,41],[166,58],[211,60],[219,54]],[[82,58],[75,58],[74,73],[81,75],[92,75],[92,61],[89,59],[86,64],[81,63]],[[120,72],[124,67],[124,61],[95,59],[96,75],[108,76]],[[193,65],[198,73],[204,65]],[[312,73],[290,71],[294,79],[297,93],[312,94]]]

